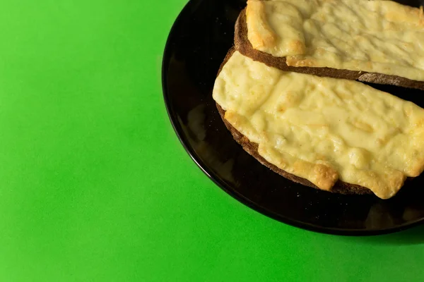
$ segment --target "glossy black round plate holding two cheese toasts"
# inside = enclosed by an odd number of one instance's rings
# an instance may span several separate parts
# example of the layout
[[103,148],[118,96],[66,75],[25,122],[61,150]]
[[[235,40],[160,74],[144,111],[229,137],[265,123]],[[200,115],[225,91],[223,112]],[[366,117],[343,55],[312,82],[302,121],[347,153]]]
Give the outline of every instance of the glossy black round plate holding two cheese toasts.
[[[241,0],[192,0],[177,18],[165,48],[163,92],[179,140],[225,192],[262,214],[324,233],[373,235],[424,221],[424,178],[405,184],[391,200],[346,196],[286,180],[232,139],[212,99],[213,82],[228,49]],[[418,6],[419,1],[403,1]],[[415,5],[414,5],[415,4]],[[378,86],[424,106],[424,92]]]

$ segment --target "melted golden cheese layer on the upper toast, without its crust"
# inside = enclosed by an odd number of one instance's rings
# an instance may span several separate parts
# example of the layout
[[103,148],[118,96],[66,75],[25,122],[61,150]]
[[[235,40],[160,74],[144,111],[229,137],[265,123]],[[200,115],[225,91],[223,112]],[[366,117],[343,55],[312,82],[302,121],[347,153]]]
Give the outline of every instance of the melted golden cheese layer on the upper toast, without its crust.
[[393,1],[247,1],[254,49],[288,66],[329,67],[424,81],[423,7]]

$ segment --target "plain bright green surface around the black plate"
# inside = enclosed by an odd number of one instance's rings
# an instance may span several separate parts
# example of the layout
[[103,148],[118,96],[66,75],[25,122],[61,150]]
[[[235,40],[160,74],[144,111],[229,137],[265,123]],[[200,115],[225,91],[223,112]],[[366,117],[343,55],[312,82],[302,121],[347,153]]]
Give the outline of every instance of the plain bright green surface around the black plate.
[[1,1],[0,281],[423,281],[423,227],[303,231],[196,167],[160,81],[185,2]]

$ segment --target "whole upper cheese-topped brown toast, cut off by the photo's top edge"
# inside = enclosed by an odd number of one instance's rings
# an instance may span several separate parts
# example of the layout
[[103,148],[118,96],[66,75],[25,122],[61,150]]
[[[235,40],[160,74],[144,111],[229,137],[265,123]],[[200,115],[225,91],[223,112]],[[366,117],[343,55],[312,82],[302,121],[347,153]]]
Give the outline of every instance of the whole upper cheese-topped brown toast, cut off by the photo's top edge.
[[[247,3],[235,25],[235,48],[255,61],[283,71],[424,90],[422,8],[392,1],[249,0]],[[319,13],[311,10],[314,5],[321,8]],[[365,16],[358,16],[361,11],[351,15],[347,11],[355,7],[348,5],[366,5],[366,9],[376,11]],[[332,18],[336,20],[343,18],[343,13],[346,23],[331,23],[331,15],[336,15]],[[379,15],[376,20],[382,20],[381,26],[368,19],[373,15]],[[330,23],[322,23],[326,17]],[[372,23],[360,23],[360,20]],[[278,23],[281,24],[276,30]],[[371,27],[374,30],[367,30]],[[319,28],[326,32],[320,33]]]

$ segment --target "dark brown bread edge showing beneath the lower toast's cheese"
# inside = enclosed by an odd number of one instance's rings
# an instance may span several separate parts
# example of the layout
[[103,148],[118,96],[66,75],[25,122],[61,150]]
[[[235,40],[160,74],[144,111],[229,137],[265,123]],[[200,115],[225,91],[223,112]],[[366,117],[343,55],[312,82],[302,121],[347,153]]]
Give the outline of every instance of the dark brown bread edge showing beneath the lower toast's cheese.
[[[235,51],[234,47],[232,47],[230,51],[228,51],[227,56],[225,56],[225,59],[219,68],[218,75],[220,71],[223,69],[223,66],[225,65],[225,63],[227,63],[227,61],[231,58],[234,51]],[[306,180],[305,178],[300,178],[291,173],[283,171],[282,169],[278,168],[277,166],[274,166],[273,164],[269,163],[269,161],[266,161],[266,159],[261,157],[258,152],[258,144],[254,142],[250,142],[245,135],[242,135],[242,133],[240,133],[237,129],[232,127],[230,123],[228,123],[228,121],[224,118],[225,110],[221,108],[221,106],[218,103],[216,104],[216,107],[218,108],[218,112],[221,118],[223,119],[225,126],[228,128],[228,130],[230,130],[232,137],[234,137],[235,141],[237,141],[240,145],[242,145],[243,149],[245,149],[246,152],[251,154],[252,157],[257,159],[264,166],[270,168],[272,171],[280,174],[281,176],[284,176],[287,179],[290,179],[302,185],[310,186],[312,188],[317,188],[317,186],[312,184],[309,180]],[[372,191],[369,190],[368,188],[365,188],[360,185],[345,183],[341,180],[338,180],[336,185],[334,185],[334,187],[331,189],[331,192],[337,192],[341,194],[373,194]]]

